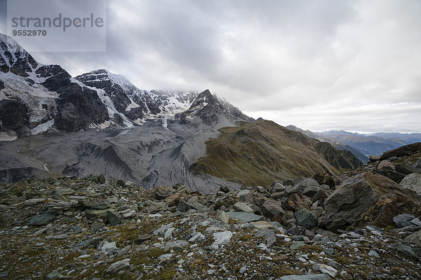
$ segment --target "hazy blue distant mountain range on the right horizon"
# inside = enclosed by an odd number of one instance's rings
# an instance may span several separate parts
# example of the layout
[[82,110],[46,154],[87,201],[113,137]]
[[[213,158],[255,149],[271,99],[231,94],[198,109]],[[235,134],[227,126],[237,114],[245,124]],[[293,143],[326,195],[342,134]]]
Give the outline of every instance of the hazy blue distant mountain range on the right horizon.
[[288,125],[290,130],[300,131],[308,137],[326,141],[340,150],[351,151],[362,162],[368,162],[370,155],[382,155],[385,151],[399,148],[400,146],[421,141],[421,133],[385,133],[359,134],[346,131],[331,130],[328,132],[311,132],[301,130],[293,125]]

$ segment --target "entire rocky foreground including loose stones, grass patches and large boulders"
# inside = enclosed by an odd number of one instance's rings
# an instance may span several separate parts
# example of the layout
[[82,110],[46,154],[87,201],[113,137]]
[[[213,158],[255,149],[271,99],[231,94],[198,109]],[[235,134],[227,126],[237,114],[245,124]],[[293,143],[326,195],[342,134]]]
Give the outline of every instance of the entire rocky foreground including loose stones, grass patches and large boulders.
[[3,183],[0,277],[420,279],[421,144],[372,161],[206,195],[103,175]]

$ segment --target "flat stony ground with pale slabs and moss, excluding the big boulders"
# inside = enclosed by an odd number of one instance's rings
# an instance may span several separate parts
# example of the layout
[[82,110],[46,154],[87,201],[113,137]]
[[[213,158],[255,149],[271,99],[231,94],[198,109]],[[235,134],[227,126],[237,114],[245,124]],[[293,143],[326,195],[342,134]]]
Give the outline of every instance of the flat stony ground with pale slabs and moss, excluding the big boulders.
[[419,227],[287,227],[250,213],[250,195],[265,191],[146,191],[103,176],[4,185],[0,278],[421,279],[420,249],[402,241]]

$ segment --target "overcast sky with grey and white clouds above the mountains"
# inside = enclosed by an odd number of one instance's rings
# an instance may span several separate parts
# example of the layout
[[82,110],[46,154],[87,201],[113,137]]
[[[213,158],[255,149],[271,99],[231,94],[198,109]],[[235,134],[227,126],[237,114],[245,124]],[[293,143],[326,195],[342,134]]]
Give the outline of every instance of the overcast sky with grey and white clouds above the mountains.
[[107,0],[107,52],[33,56],[145,90],[208,88],[280,125],[421,132],[419,0]]

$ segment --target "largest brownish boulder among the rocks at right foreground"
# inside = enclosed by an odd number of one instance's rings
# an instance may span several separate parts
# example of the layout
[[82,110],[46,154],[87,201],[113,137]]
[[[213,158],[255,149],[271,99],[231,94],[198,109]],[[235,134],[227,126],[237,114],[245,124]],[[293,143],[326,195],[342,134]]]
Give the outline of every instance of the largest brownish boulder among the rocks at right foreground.
[[[384,200],[381,201],[383,206],[392,202],[392,200],[420,203],[420,199],[415,192],[402,188],[385,176],[366,172],[347,179],[326,199],[324,203],[325,211],[321,221],[328,230],[338,230],[355,225],[361,222],[363,218],[365,218],[365,221],[376,220],[379,216],[382,216],[382,213],[385,213],[382,212],[385,207],[375,205],[376,202],[380,202],[382,196],[387,197],[387,199],[383,197]],[[370,209],[371,207],[373,209]],[[364,217],[369,209],[371,210],[370,214]],[[402,212],[399,212],[401,209],[392,209],[391,207],[387,207],[387,209],[389,209],[387,212],[395,211],[393,216],[385,218],[391,224],[392,218]]]

